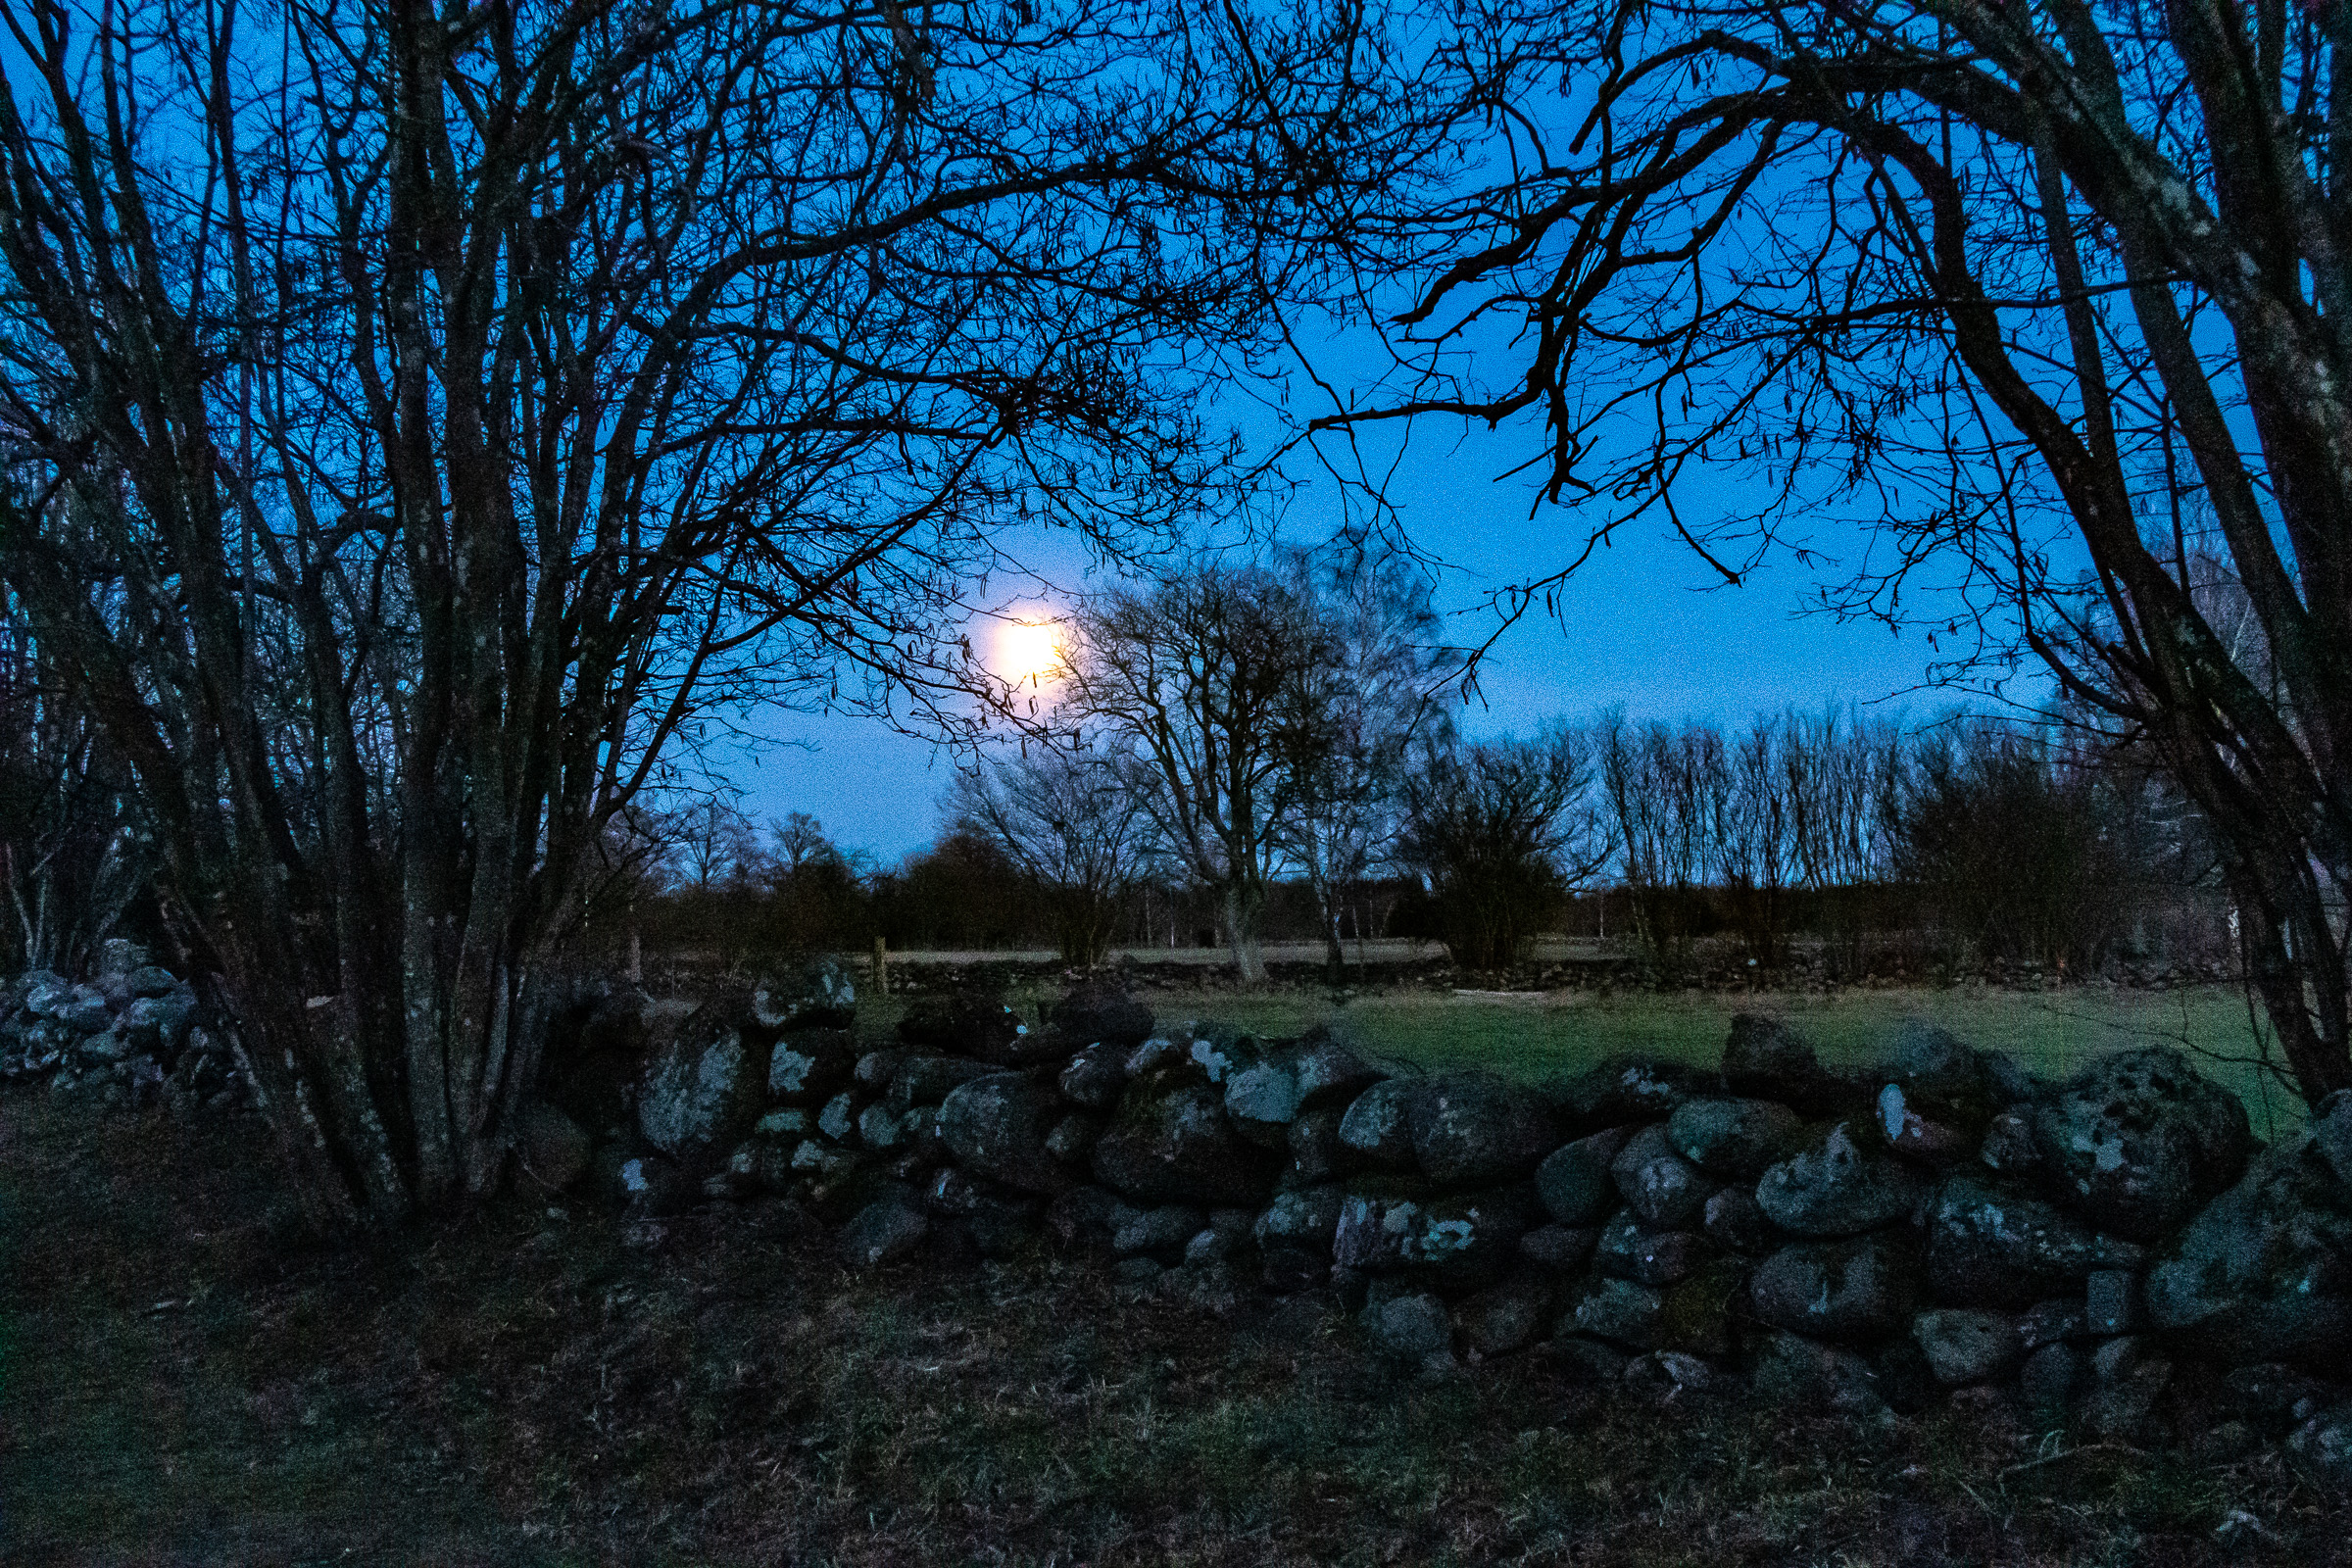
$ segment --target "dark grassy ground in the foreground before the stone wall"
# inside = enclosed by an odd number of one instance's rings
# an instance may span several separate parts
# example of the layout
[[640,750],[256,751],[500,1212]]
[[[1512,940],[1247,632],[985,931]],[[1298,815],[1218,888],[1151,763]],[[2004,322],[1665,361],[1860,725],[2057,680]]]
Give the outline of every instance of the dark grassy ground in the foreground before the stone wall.
[[[0,1561],[2336,1563],[2274,1455],[1414,1387],[1322,1302],[847,1276],[783,1204],[301,1248],[249,1124],[0,1098]],[[2063,1458],[2056,1458],[2063,1455]]]

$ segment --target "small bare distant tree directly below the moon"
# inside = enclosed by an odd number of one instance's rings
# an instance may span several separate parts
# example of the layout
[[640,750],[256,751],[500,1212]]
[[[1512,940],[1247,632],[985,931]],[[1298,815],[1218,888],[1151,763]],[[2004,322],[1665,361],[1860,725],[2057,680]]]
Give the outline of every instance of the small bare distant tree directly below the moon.
[[1127,893],[1152,851],[1136,759],[1035,745],[957,776],[948,804],[1047,896],[1065,964],[1103,961]]

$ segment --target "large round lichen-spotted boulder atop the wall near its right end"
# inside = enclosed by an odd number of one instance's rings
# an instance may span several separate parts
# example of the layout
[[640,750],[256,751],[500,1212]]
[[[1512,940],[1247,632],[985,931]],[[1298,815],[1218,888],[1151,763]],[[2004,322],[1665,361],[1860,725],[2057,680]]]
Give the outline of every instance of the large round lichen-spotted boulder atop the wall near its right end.
[[2246,1168],[2246,1105],[2171,1046],[2105,1056],[2034,1112],[2051,1182],[2100,1229],[2159,1241]]

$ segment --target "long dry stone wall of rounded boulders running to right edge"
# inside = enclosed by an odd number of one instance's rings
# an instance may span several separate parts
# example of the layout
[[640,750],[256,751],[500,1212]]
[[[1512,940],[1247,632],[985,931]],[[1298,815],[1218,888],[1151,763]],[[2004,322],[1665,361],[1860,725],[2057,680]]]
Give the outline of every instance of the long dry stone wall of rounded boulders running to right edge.
[[[644,1006],[604,999],[586,1034]],[[1329,1291],[1418,1375],[1548,1345],[1595,1378],[1858,1413],[1959,1394],[2124,1441],[2194,1406],[2352,1455],[2352,1098],[2265,1150],[2178,1051],[2060,1084],[1917,1023],[1863,1072],[1743,1016],[1715,1072],[1515,1084],[1322,1030],[1160,1030],[1115,985],[1035,1030],[929,997],[880,1051],[851,1006],[816,966],[621,1027],[644,1065],[607,1197],[790,1197],[854,1267],[1042,1239],[1211,1307]]]

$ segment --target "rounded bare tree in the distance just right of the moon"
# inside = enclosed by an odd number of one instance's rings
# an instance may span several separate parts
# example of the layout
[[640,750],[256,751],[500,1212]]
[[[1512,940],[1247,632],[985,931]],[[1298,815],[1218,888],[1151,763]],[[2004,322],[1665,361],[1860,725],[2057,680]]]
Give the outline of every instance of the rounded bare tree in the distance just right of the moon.
[[[1265,978],[1258,917],[1282,853],[1294,696],[1334,642],[1270,571],[1197,562],[1075,616],[1068,712],[1143,766],[1167,853],[1214,889],[1242,980]],[[1315,719],[1319,722],[1319,717]]]

